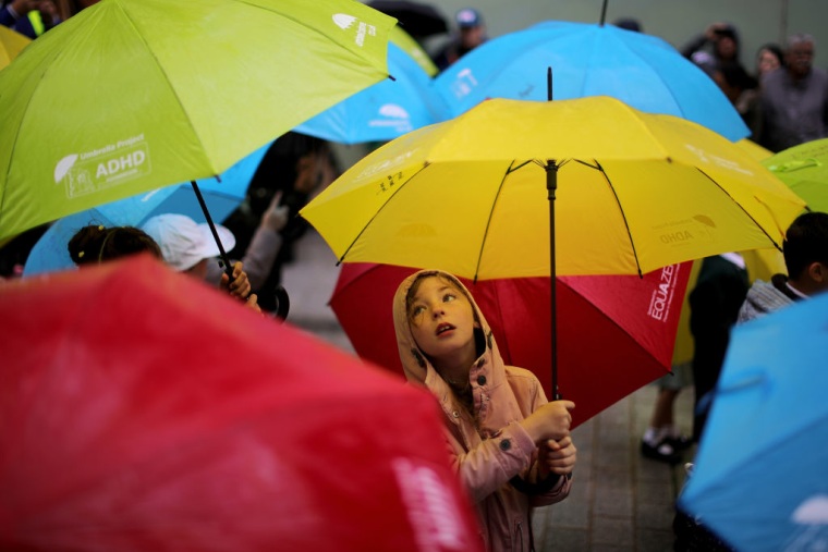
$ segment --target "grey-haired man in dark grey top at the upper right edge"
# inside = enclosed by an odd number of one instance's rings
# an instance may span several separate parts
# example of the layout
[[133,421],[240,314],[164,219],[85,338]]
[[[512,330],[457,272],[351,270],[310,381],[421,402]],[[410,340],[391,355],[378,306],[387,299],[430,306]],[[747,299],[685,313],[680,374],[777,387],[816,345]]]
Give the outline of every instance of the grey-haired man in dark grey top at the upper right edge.
[[778,152],[828,136],[828,73],[813,66],[814,38],[788,38],[784,68],[762,79],[756,142]]

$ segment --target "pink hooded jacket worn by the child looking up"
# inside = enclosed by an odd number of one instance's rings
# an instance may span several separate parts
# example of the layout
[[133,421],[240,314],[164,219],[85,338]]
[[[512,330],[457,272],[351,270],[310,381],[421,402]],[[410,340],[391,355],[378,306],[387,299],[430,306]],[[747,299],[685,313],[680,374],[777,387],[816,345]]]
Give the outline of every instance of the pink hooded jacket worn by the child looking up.
[[[417,347],[409,326],[405,297],[418,274],[441,274],[462,290],[479,321],[476,330],[485,351],[470,371],[474,400],[472,417]],[[445,415],[446,440],[452,463],[477,506],[480,537],[486,550],[532,550],[531,508],[567,498],[571,480],[560,477],[551,488],[538,483],[537,446],[519,424],[547,403],[537,378],[528,370],[506,366],[498,352],[491,329],[468,290],[453,275],[442,271],[421,271],[406,278],[393,299],[394,329],[405,377],[428,388]],[[519,491],[509,480],[520,475],[532,488]],[[547,481],[548,483],[549,481]]]

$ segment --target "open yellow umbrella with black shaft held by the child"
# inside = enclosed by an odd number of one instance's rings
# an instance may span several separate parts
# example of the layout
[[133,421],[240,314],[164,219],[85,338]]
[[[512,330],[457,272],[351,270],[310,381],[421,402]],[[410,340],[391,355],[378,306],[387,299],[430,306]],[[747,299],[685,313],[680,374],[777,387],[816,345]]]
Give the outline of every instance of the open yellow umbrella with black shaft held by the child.
[[[375,150],[301,214],[340,261],[553,280],[778,247],[803,205],[713,131],[587,97],[484,101]],[[552,316],[555,352],[553,294]],[[556,371],[553,353],[553,390]]]

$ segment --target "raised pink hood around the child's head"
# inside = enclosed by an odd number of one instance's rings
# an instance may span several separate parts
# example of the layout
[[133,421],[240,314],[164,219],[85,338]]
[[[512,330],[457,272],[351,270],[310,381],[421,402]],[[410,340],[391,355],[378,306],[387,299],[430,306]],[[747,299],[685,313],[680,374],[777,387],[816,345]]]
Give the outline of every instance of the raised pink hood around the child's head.
[[499,371],[502,372],[503,359],[500,356],[500,352],[497,348],[497,343],[495,342],[495,338],[491,334],[491,328],[489,327],[489,323],[486,321],[486,317],[483,316],[480,308],[477,306],[477,303],[475,303],[474,297],[468,292],[466,286],[463,285],[460,280],[458,280],[453,274],[450,274],[449,272],[445,272],[442,270],[421,270],[419,272],[415,272],[402,281],[400,286],[397,289],[397,293],[394,294],[393,299],[393,318],[394,332],[397,333],[397,347],[400,352],[400,360],[402,361],[405,378],[409,381],[421,384],[428,384],[429,387],[430,382],[427,382],[428,379],[439,378],[437,370],[435,370],[435,368],[431,366],[431,363],[428,361],[426,356],[423,354],[419,347],[417,347],[417,344],[414,341],[414,335],[411,332],[411,326],[409,324],[409,317],[405,309],[405,296],[407,295],[409,290],[411,289],[411,285],[414,283],[414,281],[424,275],[433,274],[439,274],[451,280],[456,284],[458,289],[460,289],[466,295],[468,302],[472,304],[474,316],[477,322],[480,324],[480,330],[475,331],[475,336],[478,341],[478,353],[480,353],[480,356],[490,358],[491,361],[486,363],[487,365],[490,367],[499,367]]

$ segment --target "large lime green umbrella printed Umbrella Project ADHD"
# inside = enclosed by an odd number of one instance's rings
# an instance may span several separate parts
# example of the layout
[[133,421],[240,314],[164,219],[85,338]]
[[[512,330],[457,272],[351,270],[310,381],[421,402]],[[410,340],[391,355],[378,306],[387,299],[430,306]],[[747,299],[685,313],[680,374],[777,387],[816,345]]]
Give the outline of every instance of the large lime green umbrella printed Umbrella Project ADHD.
[[354,0],[102,0],[0,72],[0,240],[208,177],[388,76]]

